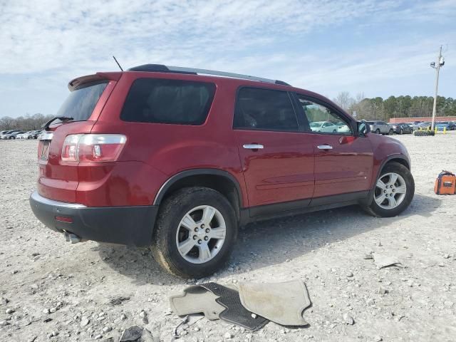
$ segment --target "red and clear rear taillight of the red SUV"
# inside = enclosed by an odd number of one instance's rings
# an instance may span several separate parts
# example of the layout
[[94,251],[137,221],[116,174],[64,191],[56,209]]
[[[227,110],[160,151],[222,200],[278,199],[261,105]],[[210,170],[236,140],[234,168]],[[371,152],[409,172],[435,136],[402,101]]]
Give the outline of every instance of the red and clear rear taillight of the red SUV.
[[66,162],[113,162],[127,137],[120,134],[72,134],[63,142],[62,160]]

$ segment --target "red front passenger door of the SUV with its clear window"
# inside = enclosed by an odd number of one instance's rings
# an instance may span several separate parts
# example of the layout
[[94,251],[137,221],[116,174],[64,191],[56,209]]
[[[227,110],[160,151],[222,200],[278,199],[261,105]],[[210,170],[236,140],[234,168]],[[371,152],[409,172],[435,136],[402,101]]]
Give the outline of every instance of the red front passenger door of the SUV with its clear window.
[[[328,198],[332,195],[369,190],[373,171],[373,148],[369,140],[356,136],[353,120],[331,104],[306,95],[296,95],[301,115],[309,124],[322,120],[339,124],[336,132],[311,133],[315,153],[315,190],[311,204],[333,202],[334,199]],[[340,198],[344,199],[343,196]],[[350,199],[350,195],[346,198]]]

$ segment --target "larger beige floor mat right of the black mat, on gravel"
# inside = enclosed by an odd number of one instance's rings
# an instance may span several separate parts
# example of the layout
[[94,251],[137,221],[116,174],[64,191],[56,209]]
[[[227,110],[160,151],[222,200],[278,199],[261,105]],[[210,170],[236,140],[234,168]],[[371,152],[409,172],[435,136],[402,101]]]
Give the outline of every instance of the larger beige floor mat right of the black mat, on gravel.
[[249,311],[284,326],[306,326],[302,313],[311,305],[306,284],[299,280],[276,284],[239,284],[239,297]]

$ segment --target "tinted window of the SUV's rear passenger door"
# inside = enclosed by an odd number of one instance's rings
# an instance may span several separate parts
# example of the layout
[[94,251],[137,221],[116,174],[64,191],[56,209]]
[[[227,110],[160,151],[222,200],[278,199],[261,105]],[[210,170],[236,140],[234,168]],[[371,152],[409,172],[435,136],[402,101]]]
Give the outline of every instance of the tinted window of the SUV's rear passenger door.
[[241,88],[234,111],[234,128],[298,131],[298,121],[286,91]]

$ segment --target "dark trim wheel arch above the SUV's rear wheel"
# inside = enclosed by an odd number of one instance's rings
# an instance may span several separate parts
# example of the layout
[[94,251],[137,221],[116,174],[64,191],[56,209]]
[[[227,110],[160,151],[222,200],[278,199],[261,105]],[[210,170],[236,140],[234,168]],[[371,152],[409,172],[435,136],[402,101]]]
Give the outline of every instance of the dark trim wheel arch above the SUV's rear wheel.
[[182,189],[182,187],[195,186],[209,187],[220,192],[227,197],[236,211],[237,218],[240,218],[243,202],[239,182],[229,172],[217,169],[192,169],[173,175],[160,187],[153,204],[159,206],[163,199],[173,192]]

